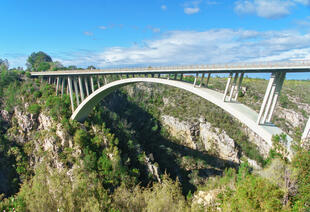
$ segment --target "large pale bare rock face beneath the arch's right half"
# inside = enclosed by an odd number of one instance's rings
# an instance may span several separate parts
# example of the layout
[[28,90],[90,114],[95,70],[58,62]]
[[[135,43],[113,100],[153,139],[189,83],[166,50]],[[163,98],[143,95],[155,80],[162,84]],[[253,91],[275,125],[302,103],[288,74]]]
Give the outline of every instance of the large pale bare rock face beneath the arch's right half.
[[238,149],[232,138],[225,131],[214,128],[209,122],[200,118],[199,122],[189,123],[179,121],[172,116],[163,115],[163,124],[168,128],[172,136],[184,142],[184,145],[199,149],[199,142],[202,143],[202,150],[206,150],[218,157],[239,163]]

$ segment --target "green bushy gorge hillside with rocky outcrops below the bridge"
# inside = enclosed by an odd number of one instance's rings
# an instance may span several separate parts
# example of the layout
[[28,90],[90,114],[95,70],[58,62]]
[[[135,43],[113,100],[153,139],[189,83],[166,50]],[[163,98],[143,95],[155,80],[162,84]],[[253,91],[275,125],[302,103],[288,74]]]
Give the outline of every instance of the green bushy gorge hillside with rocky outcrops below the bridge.
[[[310,151],[300,132],[309,81],[285,81],[274,121],[295,139],[264,148],[246,127],[185,91],[136,84],[84,123],[70,100],[22,72],[0,79],[0,203],[17,211],[306,211]],[[189,79],[190,80],[190,79]],[[223,78],[210,86],[223,90]],[[266,80],[244,80],[239,101],[259,110]]]

